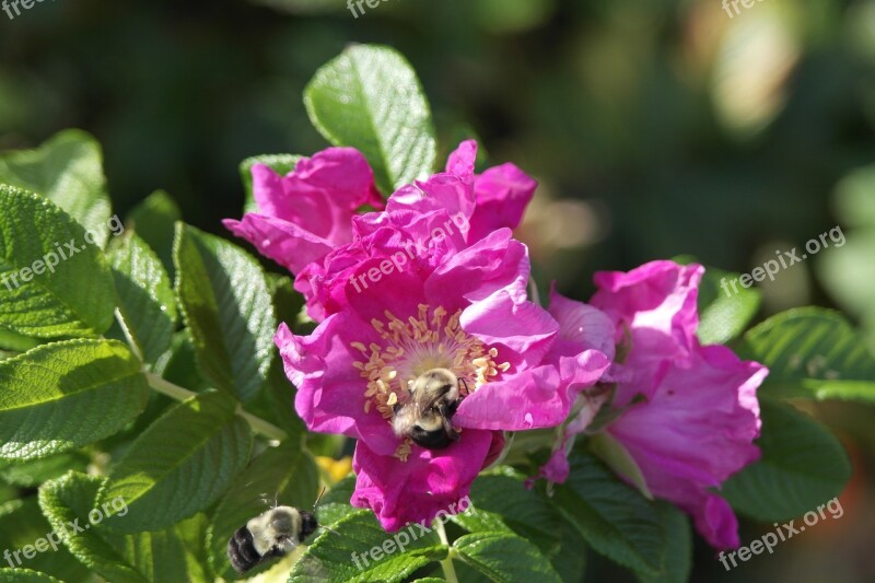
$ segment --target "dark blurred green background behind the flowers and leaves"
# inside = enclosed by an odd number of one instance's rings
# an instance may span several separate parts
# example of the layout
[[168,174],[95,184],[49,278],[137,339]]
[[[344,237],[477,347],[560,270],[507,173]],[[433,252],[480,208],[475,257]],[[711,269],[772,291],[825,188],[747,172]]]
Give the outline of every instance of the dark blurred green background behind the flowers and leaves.
[[[441,145],[477,136],[541,187],[520,236],[539,279],[578,298],[592,272],[691,254],[739,272],[840,226],[760,287],[760,316],[809,303],[875,350],[875,2],[765,0],[106,0],[0,12],[0,150],[79,127],[103,143],[119,213],[156,188],[221,233],[246,156],[326,144],[301,93],[349,43],[419,72]],[[731,9],[730,9],[731,10]],[[800,252],[801,254],[801,252]],[[875,581],[875,411],[810,409],[856,474],[841,520],[696,581]],[[768,526],[768,525],[766,525]],[[742,541],[766,526],[745,524]],[[627,575],[593,559],[588,579]]]

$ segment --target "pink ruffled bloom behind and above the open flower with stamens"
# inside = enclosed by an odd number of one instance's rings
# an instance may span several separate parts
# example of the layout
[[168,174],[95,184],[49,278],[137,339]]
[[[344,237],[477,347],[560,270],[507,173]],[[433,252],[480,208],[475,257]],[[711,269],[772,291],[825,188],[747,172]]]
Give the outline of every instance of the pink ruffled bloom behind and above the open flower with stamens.
[[383,205],[357,150],[329,148],[284,177],[256,165],[253,189],[260,212],[224,224],[294,273],[307,313],[322,322],[346,305],[350,273],[369,257],[390,258],[385,252],[392,248],[396,263],[407,255],[408,263],[422,264],[434,248],[457,252],[520,224],[537,183],[513,164],[476,175],[476,155],[477,144],[463,142],[446,172],[401,187],[385,212],[365,214],[358,213],[363,205]]

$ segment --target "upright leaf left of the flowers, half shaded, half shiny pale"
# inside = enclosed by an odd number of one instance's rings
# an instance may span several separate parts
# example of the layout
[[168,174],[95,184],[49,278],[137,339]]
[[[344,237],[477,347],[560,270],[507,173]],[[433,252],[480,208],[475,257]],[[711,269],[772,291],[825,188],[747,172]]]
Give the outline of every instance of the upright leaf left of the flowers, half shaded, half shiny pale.
[[201,371],[241,400],[264,386],[277,320],[265,272],[231,243],[178,223],[176,294]]

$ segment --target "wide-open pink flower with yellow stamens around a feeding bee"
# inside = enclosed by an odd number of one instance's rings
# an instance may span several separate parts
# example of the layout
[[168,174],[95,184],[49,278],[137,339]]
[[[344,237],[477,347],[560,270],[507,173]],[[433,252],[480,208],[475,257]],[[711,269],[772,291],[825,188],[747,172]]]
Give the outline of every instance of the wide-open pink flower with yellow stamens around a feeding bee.
[[[388,530],[431,521],[467,495],[501,451],[502,431],[560,424],[610,365],[597,347],[612,348],[610,337],[593,347],[565,341],[559,323],[526,300],[528,254],[510,229],[477,241],[453,229],[456,213],[476,213],[464,177],[420,186],[396,193],[385,212],[357,218],[355,242],[331,258],[345,265],[342,281],[323,288],[331,290],[330,314],[310,336],[282,325],[276,338],[307,428],[359,440],[352,503]],[[415,254],[409,237],[424,241]],[[450,370],[463,392],[451,418],[459,436],[440,450],[392,424],[395,407],[433,369]]]

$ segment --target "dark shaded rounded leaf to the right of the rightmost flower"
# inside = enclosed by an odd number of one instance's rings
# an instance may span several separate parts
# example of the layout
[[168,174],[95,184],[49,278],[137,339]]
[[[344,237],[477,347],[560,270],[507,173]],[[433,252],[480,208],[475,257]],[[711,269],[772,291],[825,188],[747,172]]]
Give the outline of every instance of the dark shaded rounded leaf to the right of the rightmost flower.
[[723,485],[732,506],[760,521],[784,521],[840,494],[851,463],[832,433],[788,405],[762,401],[760,408],[762,457]]

